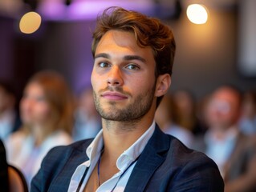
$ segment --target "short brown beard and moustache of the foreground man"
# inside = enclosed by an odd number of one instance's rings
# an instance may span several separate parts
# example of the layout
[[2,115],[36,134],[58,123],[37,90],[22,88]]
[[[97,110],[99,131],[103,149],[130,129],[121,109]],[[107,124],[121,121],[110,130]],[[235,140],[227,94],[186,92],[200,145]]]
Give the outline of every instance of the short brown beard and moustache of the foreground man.
[[[154,99],[155,89],[156,86],[154,85],[151,89],[145,90],[144,93],[136,96],[133,102],[129,103],[125,108],[119,108],[117,106],[118,103],[115,101],[108,102],[108,111],[104,110],[104,107],[100,103],[99,94],[96,94],[95,91],[93,91],[95,108],[100,116],[106,120],[118,122],[137,122],[148,113],[148,110],[150,110]],[[104,90],[100,90],[100,93],[106,90],[115,90],[121,94],[131,95],[124,92],[121,87],[107,87]]]

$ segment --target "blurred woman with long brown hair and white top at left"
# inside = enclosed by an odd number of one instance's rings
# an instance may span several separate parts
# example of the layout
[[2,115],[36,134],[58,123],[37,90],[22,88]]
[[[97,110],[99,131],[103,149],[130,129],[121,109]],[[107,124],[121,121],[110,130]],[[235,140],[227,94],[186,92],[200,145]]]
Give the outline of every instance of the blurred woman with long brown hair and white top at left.
[[6,154],[28,183],[48,150],[71,143],[72,108],[71,92],[59,74],[39,72],[26,84],[20,102],[22,128],[10,135]]

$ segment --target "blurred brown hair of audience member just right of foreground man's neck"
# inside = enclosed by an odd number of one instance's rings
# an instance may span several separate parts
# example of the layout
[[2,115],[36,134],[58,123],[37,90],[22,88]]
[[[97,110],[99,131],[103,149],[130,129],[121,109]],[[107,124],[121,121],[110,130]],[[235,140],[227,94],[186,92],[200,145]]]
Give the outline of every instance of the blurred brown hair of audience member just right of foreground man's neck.
[[178,108],[178,123],[191,131],[194,135],[202,134],[205,130],[197,118],[197,103],[193,94],[188,90],[177,90],[173,94]]

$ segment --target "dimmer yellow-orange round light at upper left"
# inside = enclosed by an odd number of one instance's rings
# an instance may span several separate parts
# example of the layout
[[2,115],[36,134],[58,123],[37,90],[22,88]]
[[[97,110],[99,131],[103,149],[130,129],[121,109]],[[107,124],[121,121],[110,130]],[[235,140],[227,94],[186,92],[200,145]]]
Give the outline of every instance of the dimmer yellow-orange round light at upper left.
[[41,25],[41,16],[33,11],[24,14],[19,22],[19,29],[24,34],[32,34]]

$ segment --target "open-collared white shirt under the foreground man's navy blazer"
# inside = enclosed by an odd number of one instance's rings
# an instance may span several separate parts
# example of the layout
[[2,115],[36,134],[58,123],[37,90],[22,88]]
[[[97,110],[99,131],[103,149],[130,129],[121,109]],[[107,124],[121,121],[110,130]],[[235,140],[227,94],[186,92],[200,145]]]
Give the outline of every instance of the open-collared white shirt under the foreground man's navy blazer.
[[[117,186],[114,191],[124,191],[124,188],[128,182],[128,178],[132,174],[132,170],[136,163],[134,163],[132,166],[128,168],[128,166],[136,160],[137,157],[141,154],[141,152],[144,150],[144,147],[147,145],[148,140],[151,138],[154,130],[155,130],[155,122],[152,122],[152,125],[148,128],[148,130],[138,138],[136,142],[132,144],[128,148],[128,150],[125,150],[123,154],[120,155],[120,157],[116,160],[116,167],[120,170],[117,174],[114,174],[112,178],[108,179],[108,181],[104,182],[97,190],[96,192],[107,192],[111,191],[114,186],[117,183]],[[88,179],[91,176],[91,172],[94,170],[95,165],[97,164],[101,150],[104,146],[103,142],[103,130],[100,130],[100,133],[97,134],[95,139],[91,142],[90,146],[88,146],[86,150],[87,157],[89,160],[86,162],[83,162],[81,165],[79,165],[74,174],[71,177],[71,182],[68,188],[68,192],[74,192],[77,190],[79,186],[79,182],[83,176],[83,173],[86,169],[88,169],[87,174],[83,180],[83,184],[79,191],[83,191],[84,187],[87,184]],[[120,175],[128,168],[128,170],[125,172],[124,176],[120,178]],[[120,179],[119,179],[120,178]]]

